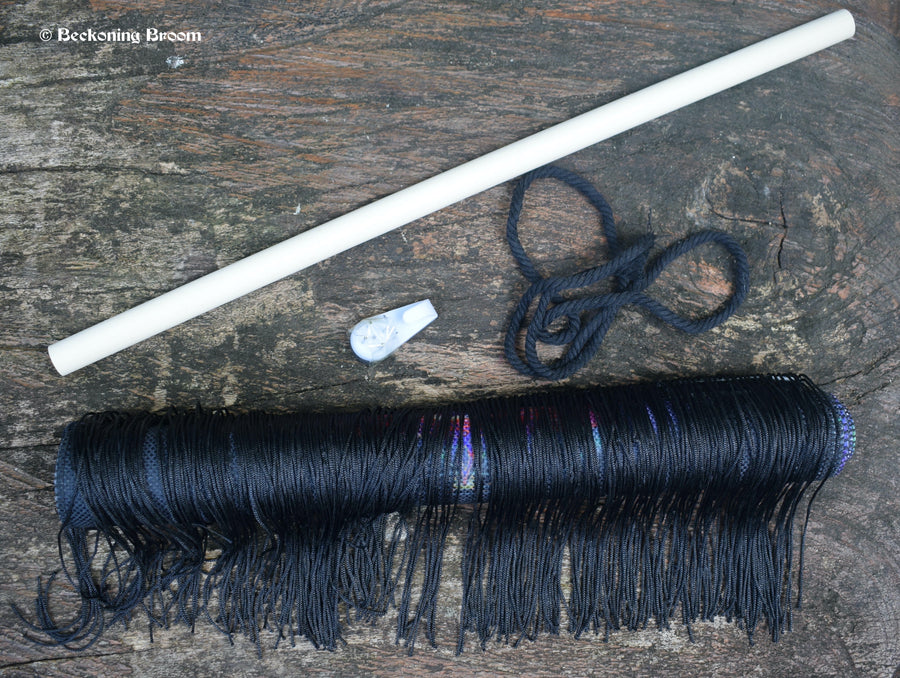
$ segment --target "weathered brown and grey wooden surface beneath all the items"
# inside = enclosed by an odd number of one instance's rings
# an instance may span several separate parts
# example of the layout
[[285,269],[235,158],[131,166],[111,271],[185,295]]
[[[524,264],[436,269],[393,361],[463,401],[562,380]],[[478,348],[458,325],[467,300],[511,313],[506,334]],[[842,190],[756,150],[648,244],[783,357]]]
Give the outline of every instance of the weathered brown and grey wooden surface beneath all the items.
[[[409,658],[392,620],[346,647],[262,657],[207,625],[150,642],[140,621],[83,654],[26,641],[57,568],[55,446],[88,410],[168,405],[290,410],[402,405],[544,384],[503,360],[524,289],[499,186],[58,376],[46,346],[356,206],[688,67],[836,9],[777,3],[0,3],[0,673],[9,676],[896,676],[900,663],[898,108],[900,10],[853,0],[857,37],[561,164],[597,183],[623,237],[728,230],[746,248],[740,313],[687,337],[626,309],[573,384],[801,371],[851,408],[859,450],[820,493],[806,595],[777,644],[722,621],[542,637]],[[42,42],[41,29],[200,31],[199,43]],[[180,57],[183,64],[169,57]],[[602,260],[589,209],[529,194],[542,270]],[[654,293],[699,313],[727,293],[712,249]],[[360,318],[429,297],[439,319],[374,367]],[[458,540],[448,569],[458,562]],[[457,559],[454,561],[454,559]],[[448,579],[452,579],[448,578]]]

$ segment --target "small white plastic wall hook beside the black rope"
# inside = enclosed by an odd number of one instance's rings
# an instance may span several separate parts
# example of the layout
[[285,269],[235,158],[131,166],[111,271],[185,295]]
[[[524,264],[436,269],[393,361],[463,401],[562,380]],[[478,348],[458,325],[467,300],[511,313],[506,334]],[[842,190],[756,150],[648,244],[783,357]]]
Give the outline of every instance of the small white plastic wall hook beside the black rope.
[[367,363],[384,360],[435,318],[437,311],[428,299],[373,315],[350,330],[350,347]]

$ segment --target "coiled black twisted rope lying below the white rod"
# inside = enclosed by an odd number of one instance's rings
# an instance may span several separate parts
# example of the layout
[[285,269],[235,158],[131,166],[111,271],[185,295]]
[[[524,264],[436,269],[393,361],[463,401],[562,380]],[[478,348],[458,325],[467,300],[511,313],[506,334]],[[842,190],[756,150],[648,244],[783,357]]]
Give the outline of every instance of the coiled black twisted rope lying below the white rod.
[[[574,275],[547,276],[538,273],[519,241],[518,224],[525,192],[535,179],[558,179],[586,197],[600,214],[609,261]],[[662,321],[689,334],[699,334],[727,320],[747,297],[750,265],[737,241],[727,233],[713,229],[688,235],[666,247],[652,261],[650,251],[655,238],[648,234],[635,244],[622,247],[616,232],[612,209],[606,199],[587,180],[555,165],[547,165],[524,175],[513,191],[506,222],[506,238],[513,257],[531,286],[522,295],[509,322],[504,350],[506,359],[519,372],[544,379],[564,379],[584,367],[600,349],[616,313],[629,304],[642,306]],[[645,293],[663,270],[691,250],[714,243],[732,258],[734,291],[714,313],[702,318],[681,316]],[[610,279],[613,289],[604,294],[573,297],[579,290]],[[529,310],[533,313],[528,319]],[[560,321],[562,325],[560,326]],[[554,329],[554,327],[556,327]],[[517,350],[517,339],[524,330],[524,360]],[[538,356],[538,343],[568,345],[565,354],[552,363]]]

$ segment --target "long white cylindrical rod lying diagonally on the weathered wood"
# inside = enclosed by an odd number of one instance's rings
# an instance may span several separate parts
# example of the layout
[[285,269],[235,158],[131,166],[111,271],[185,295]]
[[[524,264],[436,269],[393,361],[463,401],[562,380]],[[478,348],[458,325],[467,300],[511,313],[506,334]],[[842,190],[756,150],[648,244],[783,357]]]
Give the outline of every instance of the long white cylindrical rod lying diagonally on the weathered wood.
[[780,33],[559,123],[193,280],[52,344],[69,374],[351,247],[851,37],[847,10]]

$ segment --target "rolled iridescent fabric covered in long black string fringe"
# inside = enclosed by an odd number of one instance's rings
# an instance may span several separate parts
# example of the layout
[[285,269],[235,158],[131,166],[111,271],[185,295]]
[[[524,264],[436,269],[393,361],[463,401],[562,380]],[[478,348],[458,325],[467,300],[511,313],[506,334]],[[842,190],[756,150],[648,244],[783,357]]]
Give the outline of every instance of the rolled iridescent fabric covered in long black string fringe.
[[41,585],[33,628],[83,648],[143,611],[151,629],[206,619],[258,646],[269,629],[333,649],[347,620],[396,607],[412,651],[435,642],[445,540],[470,505],[458,650],[718,616],[777,640],[799,598],[795,516],[854,445],[847,410],[794,375],[359,413],[92,414],[66,429],[56,470],[81,609],[56,621]]

